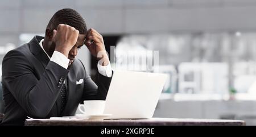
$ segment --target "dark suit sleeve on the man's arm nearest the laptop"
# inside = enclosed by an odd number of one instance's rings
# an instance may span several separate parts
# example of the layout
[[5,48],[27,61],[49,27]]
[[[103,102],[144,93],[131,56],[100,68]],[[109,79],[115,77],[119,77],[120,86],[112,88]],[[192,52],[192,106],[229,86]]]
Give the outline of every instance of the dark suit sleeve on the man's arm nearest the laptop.
[[[85,68],[84,68],[85,69]],[[85,70],[84,78],[84,93],[82,94],[81,102],[84,100],[105,100],[109,85],[112,77],[105,77],[100,73],[97,73],[98,85],[90,78],[89,74]]]

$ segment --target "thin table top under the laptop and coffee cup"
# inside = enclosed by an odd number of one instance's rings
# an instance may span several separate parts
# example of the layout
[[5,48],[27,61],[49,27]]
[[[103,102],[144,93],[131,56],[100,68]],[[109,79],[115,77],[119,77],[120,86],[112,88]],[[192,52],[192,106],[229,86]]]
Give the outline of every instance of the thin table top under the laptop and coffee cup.
[[185,118],[151,118],[151,119],[82,119],[26,121],[26,126],[244,126],[244,121],[222,119],[185,119]]

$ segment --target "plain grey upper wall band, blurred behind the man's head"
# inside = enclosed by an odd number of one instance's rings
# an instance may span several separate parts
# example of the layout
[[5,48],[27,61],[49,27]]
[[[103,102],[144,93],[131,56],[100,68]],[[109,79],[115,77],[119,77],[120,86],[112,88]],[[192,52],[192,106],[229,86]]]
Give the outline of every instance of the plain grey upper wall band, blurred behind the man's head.
[[43,34],[65,7],[104,35],[256,30],[255,0],[1,0],[0,46],[18,46],[20,34]]

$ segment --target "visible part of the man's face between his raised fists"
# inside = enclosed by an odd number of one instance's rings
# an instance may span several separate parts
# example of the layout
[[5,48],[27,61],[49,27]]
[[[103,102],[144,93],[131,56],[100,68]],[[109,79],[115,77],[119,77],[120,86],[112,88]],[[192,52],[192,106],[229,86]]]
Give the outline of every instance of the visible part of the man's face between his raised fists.
[[69,63],[73,63],[79,49],[82,47],[82,45],[84,45],[85,36],[86,36],[85,34],[79,34],[76,44],[68,53],[68,59],[70,60]]

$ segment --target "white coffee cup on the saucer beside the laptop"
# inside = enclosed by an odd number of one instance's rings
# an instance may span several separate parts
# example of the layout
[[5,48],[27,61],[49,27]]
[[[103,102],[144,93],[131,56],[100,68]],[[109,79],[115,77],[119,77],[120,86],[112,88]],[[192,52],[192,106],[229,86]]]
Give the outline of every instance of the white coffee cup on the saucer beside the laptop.
[[[81,109],[83,107],[84,110]],[[79,106],[79,110],[82,114],[86,115],[101,115],[105,109],[105,101],[101,100],[90,100],[84,101],[84,105]]]

